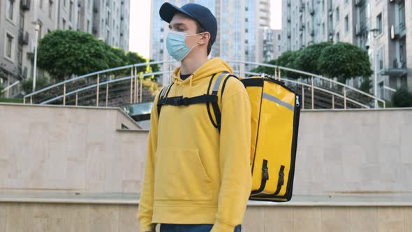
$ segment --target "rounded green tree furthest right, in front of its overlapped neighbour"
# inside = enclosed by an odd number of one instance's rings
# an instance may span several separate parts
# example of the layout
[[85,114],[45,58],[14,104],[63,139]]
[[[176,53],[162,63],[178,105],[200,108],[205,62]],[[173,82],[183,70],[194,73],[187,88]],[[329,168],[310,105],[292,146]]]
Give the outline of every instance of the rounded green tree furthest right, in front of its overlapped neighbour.
[[340,82],[358,76],[369,77],[371,64],[365,50],[350,43],[336,43],[325,47],[318,59],[318,70]]

